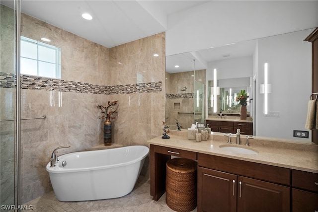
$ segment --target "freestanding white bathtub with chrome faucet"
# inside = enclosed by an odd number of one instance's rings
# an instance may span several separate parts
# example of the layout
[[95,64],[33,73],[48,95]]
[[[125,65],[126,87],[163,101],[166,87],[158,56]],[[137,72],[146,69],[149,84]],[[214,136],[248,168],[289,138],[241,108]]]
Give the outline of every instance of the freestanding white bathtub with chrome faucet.
[[48,163],[46,170],[59,201],[118,198],[133,190],[148,154],[142,145],[74,152],[59,156],[55,167]]

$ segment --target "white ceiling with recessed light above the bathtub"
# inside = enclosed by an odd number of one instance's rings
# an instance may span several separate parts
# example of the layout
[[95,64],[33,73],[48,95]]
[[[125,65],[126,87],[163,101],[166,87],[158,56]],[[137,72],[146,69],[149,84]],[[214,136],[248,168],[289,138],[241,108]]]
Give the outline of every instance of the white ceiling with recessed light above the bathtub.
[[[167,30],[167,16],[207,0],[22,0],[21,12],[111,48]],[[13,0],[1,0],[13,7]],[[89,13],[92,20],[85,20]]]

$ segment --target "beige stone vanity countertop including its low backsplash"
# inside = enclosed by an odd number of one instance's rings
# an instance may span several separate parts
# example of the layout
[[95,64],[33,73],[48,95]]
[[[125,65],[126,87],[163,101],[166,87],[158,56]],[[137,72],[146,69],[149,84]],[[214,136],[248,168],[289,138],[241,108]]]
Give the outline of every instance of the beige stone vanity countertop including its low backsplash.
[[[188,140],[187,132],[175,131],[171,132],[169,136],[170,139],[161,139],[159,136],[148,142],[159,146],[318,173],[318,145],[316,144],[251,139],[248,140],[250,145],[246,147],[244,145],[246,137],[243,136],[241,136],[240,145],[235,144],[235,138],[232,138],[232,144],[228,144],[228,138],[221,133],[213,133],[209,135],[208,141],[201,142]],[[239,146],[258,153],[233,153],[223,150],[220,148],[221,145]]]

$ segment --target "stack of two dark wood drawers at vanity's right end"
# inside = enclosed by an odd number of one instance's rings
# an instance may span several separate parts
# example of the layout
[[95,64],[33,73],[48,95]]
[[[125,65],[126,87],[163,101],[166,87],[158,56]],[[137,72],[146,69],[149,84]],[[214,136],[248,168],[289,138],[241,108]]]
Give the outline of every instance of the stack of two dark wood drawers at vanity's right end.
[[318,212],[318,174],[293,170],[292,212]]

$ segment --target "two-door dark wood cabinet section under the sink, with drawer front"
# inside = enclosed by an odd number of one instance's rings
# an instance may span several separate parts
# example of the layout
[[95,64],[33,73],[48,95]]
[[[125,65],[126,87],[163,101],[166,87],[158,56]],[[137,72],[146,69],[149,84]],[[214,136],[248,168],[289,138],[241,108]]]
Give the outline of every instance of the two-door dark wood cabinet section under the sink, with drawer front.
[[290,179],[287,168],[198,153],[198,212],[290,212]]

